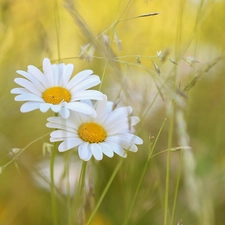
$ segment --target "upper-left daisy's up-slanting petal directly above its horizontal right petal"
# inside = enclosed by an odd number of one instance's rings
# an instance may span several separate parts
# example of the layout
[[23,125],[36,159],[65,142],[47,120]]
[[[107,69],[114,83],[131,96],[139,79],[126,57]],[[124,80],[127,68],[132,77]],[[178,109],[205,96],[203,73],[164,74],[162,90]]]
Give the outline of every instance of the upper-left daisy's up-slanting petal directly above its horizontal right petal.
[[91,75],[86,80],[82,81],[81,83],[77,84],[74,88],[72,88],[71,92],[73,93],[73,92],[84,91],[100,83],[101,83],[100,78],[97,75]]

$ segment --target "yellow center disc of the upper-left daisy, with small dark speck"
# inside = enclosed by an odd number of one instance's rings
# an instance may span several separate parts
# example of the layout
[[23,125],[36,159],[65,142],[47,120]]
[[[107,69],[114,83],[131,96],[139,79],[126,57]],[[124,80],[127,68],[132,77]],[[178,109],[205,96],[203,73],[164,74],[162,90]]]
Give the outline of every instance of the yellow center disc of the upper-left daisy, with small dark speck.
[[63,101],[69,102],[71,99],[71,94],[67,89],[63,87],[51,87],[43,93],[42,98],[47,103],[57,105]]

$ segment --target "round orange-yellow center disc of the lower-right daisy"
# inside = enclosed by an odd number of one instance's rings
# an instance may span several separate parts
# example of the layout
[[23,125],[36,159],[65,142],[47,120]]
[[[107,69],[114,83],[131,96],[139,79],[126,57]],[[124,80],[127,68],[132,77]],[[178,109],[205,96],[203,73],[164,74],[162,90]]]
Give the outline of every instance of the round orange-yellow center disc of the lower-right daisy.
[[84,123],[78,130],[80,138],[89,143],[103,142],[106,138],[106,132],[102,126],[97,123]]

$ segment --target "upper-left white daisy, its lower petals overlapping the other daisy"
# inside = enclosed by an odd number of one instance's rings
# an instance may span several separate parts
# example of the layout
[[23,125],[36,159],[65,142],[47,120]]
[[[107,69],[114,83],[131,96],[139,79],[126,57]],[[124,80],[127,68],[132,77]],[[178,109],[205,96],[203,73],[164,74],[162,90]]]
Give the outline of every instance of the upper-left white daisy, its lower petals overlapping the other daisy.
[[47,112],[51,109],[63,118],[68,118],[70,111],[96,116],[93,107],[80,100],[102,100],[101,92],[87,90],[99,84],[100,79],[97,75],[92,75],[92,70],[83,70],[71,79],[73,69],[73,64],[51,65],[50,60],[45,58],[43,73],[31,65],[27,72],[18,70],[17,73],[24,78],[16,78],[14,81],[22,87],[12,89],[11,93],[18,94],[16,101],[26,101],[20,108],[21,112],[35,109]]

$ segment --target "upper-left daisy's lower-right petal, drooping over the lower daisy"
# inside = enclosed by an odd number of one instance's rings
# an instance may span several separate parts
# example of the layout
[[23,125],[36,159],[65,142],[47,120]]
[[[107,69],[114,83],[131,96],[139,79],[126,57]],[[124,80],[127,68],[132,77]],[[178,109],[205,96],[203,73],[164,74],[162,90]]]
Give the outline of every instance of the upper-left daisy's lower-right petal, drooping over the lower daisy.
[[69,102],[65,107],[76,112],[91,115],[93,117],[96,117],[97,115],[94,108],[82,102]]

